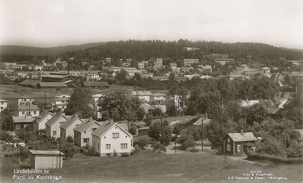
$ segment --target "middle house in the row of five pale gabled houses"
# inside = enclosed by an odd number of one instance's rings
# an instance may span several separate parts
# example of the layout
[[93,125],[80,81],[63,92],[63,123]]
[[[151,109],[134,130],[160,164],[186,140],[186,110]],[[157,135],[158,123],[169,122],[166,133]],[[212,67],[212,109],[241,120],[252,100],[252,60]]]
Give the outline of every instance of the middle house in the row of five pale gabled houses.
[[[68,118],[60,126],[60,137],[65,140],[67,136],[74,136],[74,128],[82,123],[82,120],[78,117],[78,113],[75,113],[72,117]],[[75,137],[74,137],[75,139]]]

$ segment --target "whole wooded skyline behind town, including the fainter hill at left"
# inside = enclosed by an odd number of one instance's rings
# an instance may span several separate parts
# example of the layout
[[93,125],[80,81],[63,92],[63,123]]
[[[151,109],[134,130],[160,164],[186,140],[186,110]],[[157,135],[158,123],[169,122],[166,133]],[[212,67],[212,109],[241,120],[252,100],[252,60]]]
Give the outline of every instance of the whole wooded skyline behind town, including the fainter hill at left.
[[[103,60],[105,57],[112,59],[127,59],[132,58],[135,60],[149,60],[151,58],[171,58],[173,60],[180,60],[184,58],[198,58],[214,53],[214,54],[230,54],[230,58],[248,58],[259,57],[260,59],[274,60],[278,58],[285,58],[286,60],[302,60],[303,50],[293,50],[274,47],[262,43],[222,43],[215,41],[189,41],[180,39],[179,41],[158,41],[158,40],[128,40],[128,41],[112,41],[98,45],[95,43],[93,46],[90,44],[79,46],[66,46],[54,48],[32,48],[22,49],[22,47],[1,46],[2,58],[9,61],[7,54],[28,54],[28,55],[55,55],[66,59],[68,57],[77,57],[77,60],[90,59],[90,60]],[[2,47],[5,47],[2,50]],[[86,47],[86,48],[85,48]],[[187,51],[184,47],[199,48],[195,51]],[[31,47],[26,47],[31,48]],[[74,51],[71,51],[74,48]],[[14,52],[15,49],[15,52]],[[18,51],[19,49],[19,51]],[[62,51],[62,53],[60,53]],[[3,55],[6,54],[5,57]],[[54,56],[53,56],[54,57]],[[18,61],[18,59],[16,60]]]

